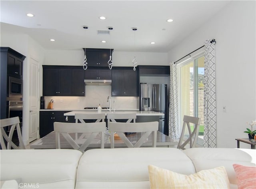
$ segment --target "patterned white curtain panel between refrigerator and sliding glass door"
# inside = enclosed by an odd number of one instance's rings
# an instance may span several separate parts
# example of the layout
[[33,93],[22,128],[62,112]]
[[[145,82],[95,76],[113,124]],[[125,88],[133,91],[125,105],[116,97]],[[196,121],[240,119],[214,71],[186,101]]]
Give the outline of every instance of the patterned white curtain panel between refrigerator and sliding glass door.
[[178,70],[177,64],[170,63],[170,106],[169,106],[169,137],[180,138],[178,116]]

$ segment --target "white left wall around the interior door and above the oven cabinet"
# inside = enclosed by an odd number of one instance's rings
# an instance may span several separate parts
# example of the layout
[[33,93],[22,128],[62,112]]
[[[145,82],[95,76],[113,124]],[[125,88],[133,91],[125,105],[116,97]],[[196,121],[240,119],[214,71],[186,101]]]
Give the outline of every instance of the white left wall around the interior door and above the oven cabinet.
[[[34,58],[40,64],[44,61],[44,49],[28,35],[1,34],[1,46],[10,47],[26,56],[23,62],[23,119],[22,138],[28,144],[28,115],[29,115],[29,61]],[[41,71],[42,75],[42,71]],[[42,77],[40,77],[42,78]],[[42,83],[42,81],[40,81]],[[42,85],[42,84],[41,84]],[[41,92],[42,94],[42,92]],[[38,101],[39,104],[39,101]]]

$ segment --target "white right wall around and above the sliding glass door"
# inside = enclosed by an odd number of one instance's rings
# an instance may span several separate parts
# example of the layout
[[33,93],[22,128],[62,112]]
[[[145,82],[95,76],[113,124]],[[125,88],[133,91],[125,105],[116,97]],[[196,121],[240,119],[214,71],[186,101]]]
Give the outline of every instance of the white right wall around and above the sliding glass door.
[[255,1],[232,1],[168,53],[176,61],[216,39],[217,147],[236,147],[235,138],[248,137],[246,122],[256,119],[255,12]]

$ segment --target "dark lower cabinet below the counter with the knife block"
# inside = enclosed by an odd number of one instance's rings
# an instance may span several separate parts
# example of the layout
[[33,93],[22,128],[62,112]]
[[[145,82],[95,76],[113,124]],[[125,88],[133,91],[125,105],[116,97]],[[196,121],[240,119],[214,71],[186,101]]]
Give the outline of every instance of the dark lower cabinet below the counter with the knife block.
[[54,130],[54,122],[74,123],[75,121],[72,118],[69,118],[68,121],[66,121],[66,116],[63,115],[66,112],[68,111],[40,111],[40,138]]

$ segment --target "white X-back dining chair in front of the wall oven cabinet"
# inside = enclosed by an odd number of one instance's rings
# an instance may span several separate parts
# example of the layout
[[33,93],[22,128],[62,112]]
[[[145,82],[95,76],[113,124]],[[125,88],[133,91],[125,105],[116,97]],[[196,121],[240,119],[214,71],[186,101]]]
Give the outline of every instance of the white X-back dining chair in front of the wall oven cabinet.
[[[8,129],[10,130],[9,135],[7,135],[4,127],[8,127]],[[19,146],[17,146],[12,142],[12,136],[15,129],[17,130],[17,134],[18,134]],[[12,118],[0,120],[0,144],[2,149],[11,149],[11,147],[13,149],[25,149],[25,145],[23,143],[22,135],[20,131],[19,117],[12,117]]]

